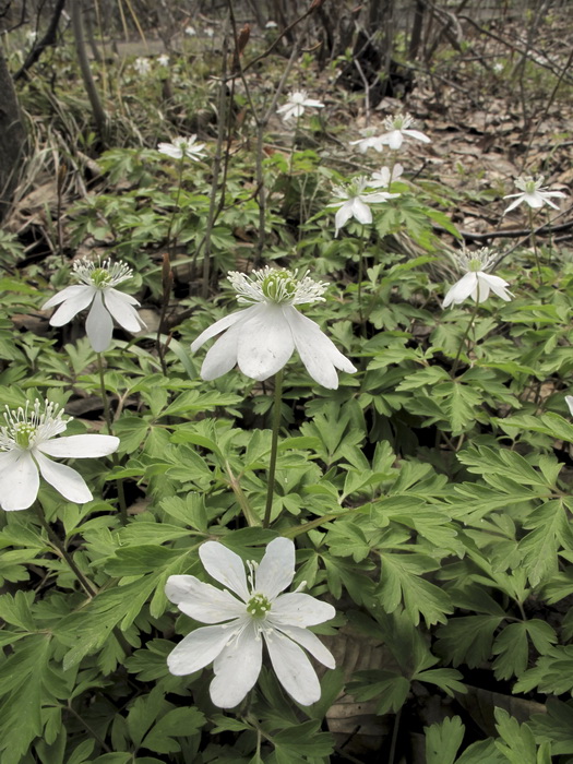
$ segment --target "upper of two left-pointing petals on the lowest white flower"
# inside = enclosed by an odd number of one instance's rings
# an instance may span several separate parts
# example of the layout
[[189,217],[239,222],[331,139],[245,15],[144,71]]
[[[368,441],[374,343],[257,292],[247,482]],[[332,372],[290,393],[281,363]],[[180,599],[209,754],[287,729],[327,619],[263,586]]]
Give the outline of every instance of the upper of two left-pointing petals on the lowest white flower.
[[220,623],[246,612],[244,602],[239,602],[227,589],[222,592],[194,575],[170,575],[165,594],[181,612],[201,623]]

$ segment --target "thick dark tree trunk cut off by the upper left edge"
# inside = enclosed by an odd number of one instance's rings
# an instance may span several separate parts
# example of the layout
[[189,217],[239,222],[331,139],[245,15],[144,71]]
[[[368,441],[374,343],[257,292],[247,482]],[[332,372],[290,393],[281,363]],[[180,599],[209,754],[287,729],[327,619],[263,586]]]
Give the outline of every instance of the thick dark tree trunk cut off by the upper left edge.
[[0,220],[10,210],[12,193],[17,186],[24,159],[26,133],[20,116],[12,77],[0,48]]

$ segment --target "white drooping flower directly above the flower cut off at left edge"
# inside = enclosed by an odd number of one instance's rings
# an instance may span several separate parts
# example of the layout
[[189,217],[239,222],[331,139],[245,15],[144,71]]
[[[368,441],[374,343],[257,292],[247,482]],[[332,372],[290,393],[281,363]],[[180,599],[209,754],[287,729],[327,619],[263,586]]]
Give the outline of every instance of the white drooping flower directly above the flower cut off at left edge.
[[110,260],[93,262],[84,258],[73,263],[73,274],[82,284],[65,287],[41,306],[41,310],[60,306],[50,319],[52,326],[63,326],[81,310],[92,306],[85,331],[96,353],[109,347],[114,332],[112,318],[128,332],[146,329],[133,307],[140,305],[138,300],[114,289],[131,278],[132,271],[126,263],[118,261],[111,264]]

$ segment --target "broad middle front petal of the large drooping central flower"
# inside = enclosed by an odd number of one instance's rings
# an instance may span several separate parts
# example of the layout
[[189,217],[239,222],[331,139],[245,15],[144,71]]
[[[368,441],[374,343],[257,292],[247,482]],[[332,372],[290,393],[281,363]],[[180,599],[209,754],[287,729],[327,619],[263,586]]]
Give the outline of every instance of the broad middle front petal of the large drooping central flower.
[[239,369],[259,382],[276,374],[295,351],[283,307],[272,303],[262,307],[243,324],[237,346]]

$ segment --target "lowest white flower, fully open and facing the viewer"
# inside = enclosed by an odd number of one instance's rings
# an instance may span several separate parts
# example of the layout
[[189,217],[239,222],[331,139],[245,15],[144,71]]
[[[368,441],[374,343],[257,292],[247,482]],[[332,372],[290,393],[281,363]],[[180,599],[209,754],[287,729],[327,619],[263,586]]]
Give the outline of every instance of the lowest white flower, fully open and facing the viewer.
[[248,576],[241,558],[223,544],[207,541],[199,556],[207,573],[227,588],[217,589],[193,575],[169,576],[165,593],[171,602],[201,623],[216,624],[188,634],[167,657],[169,671],[181,677],[213,660],[211,700],[232,708],[259,678],[264,641],[288,694],[305,706],[315,703],[321,694],[319,679],[301,647],[327,668],[335,667],[331,652],[308,626],[330,621],[336,611],[301,594],[300,587],[280,594],[295,575],[294,542],[275,538],[260,565],[248,563]]

